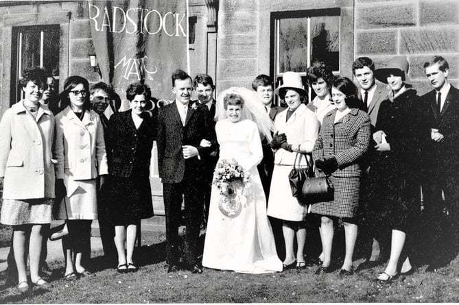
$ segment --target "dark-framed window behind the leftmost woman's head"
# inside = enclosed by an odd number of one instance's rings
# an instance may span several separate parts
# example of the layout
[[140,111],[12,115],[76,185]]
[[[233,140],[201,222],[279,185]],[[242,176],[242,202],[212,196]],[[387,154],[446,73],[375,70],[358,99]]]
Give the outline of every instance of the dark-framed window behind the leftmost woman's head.
[[41,66],[49,71],[59,88],[60,25],[12,28],[10,105],[23,99],[20,80],[22,71]]

